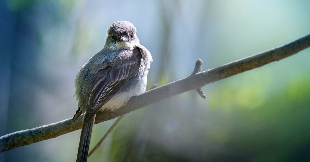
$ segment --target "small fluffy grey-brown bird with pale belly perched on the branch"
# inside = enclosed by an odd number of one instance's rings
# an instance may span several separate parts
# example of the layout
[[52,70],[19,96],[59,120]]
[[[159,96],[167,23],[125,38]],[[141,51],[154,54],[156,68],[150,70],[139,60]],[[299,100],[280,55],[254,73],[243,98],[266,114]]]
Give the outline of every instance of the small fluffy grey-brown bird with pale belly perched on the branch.
[[144,92],[153,61],[150,52],[140,45],[132,23],[114,22],[107,33],[104,48],[82,66],[75,79],[78,110],[72,122],[83,115],[76,161],[87,161],[96,113],[115,111]]

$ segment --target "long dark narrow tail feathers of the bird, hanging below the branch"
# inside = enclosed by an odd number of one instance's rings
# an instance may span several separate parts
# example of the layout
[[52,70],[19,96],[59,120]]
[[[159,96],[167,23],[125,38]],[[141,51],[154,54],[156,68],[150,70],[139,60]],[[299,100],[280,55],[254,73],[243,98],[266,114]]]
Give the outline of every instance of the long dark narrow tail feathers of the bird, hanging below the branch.
[[89,144],[91,143],[91,132],[93,131],[95,117],[96,115],[94,115],[89,121],[87,121],[82,126],[80,144],[78,146],[77,162],[87,161]]

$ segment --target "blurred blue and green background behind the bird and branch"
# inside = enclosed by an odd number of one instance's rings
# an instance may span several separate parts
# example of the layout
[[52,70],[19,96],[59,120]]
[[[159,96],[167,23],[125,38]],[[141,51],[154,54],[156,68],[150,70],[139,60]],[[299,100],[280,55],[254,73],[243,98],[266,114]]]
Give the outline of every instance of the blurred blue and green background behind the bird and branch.
[[[295,40],[310,1],[0,2],[0,135],[77,110],[74,78],[106,29],[131,21],[153,56],[148,87]],[[310,161],[310,49],[126,114],[89,161]],[[95,125],[91,148],[116,119]],[[0,153],[75,161],[80,130]]]

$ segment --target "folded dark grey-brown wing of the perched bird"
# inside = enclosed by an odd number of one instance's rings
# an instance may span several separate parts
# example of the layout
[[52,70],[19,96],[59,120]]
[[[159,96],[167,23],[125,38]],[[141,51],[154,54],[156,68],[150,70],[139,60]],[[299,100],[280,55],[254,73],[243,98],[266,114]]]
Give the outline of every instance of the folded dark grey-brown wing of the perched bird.
[[141,62],[141,52],[133,50],[131,58],[119,62],[117,66],[107,66],[98,72],[88,100],[89,108],[84,117],[87,122],[101,107],[108,102],[121,87],[133,76],[137,75]]

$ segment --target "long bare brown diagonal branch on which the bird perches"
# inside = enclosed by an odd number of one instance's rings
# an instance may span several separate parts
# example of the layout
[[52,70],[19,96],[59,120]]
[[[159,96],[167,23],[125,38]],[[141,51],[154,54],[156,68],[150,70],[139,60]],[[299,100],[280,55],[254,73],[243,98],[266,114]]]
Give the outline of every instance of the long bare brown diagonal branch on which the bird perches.
[[[115,112],[97,113],[95,123],[113,119],[122,114],[140,109],[146,105],[192,89],[200,88],[208,83],[213,83],[215,81],[225,79],[227,77],[242,73],[246,70],[251,70],[270,62],[279,61],[308,47],[310,47],[310,34],[294,40],[286,45],[242,58],[223,66],[189,75],[186,78],[154,88],[138,96],[133,96],[128,101],[126,106],[118,109]],[[49,125],[39,126],[36,128],[21,130],[3,135],[0,137],[0,152],[42,140],[56,138],[62,134],[81,129],[81,116],[73,124],[71,124],[71,120],[72,118],[69,118]]]

